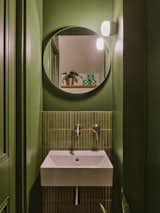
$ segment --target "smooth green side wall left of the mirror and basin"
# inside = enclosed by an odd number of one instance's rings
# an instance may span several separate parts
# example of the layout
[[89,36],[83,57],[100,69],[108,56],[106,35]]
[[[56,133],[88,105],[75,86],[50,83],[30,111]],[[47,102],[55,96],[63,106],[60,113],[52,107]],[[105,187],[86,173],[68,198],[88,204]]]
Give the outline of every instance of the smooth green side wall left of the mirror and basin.
[[26,1],[26,190],[29,212],[40,212],[42,152],[42,1]]

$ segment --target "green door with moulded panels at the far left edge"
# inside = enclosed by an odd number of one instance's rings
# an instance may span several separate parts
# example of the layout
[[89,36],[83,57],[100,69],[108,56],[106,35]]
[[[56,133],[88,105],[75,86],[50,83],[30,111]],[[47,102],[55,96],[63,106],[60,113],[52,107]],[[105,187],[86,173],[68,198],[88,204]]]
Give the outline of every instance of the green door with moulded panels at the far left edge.
[[16,212],[16,1],[0,1],[0,212]]

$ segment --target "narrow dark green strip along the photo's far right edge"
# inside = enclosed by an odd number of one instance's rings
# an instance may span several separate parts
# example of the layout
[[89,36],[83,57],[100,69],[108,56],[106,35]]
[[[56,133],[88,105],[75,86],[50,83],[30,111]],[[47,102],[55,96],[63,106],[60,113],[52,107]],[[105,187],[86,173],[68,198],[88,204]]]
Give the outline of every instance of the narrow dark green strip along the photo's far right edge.
[[160,212],[160,1],[148,0],[148,147],[146,211]]

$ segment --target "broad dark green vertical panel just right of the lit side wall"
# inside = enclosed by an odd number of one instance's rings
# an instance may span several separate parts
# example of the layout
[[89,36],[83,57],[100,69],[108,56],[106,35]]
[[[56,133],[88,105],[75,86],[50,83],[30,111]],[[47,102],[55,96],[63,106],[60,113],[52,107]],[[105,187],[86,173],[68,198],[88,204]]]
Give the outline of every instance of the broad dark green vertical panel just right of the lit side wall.
[[[132,213],[144,212],[146,153],[146,1],[124,0],[123,183]],[[153,212],[153,211],[151,211]]]

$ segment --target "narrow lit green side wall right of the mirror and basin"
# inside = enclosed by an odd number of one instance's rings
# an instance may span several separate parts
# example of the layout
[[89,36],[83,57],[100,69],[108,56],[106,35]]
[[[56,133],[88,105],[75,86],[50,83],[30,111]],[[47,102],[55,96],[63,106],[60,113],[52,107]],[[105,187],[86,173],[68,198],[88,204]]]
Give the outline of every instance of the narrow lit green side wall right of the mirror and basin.
[[113,94],[113,207],[112,213],[121,212],[121,185],[123,172],[123,0],[114,1],[114,20],[118,22],[115,36],[112,94]]

